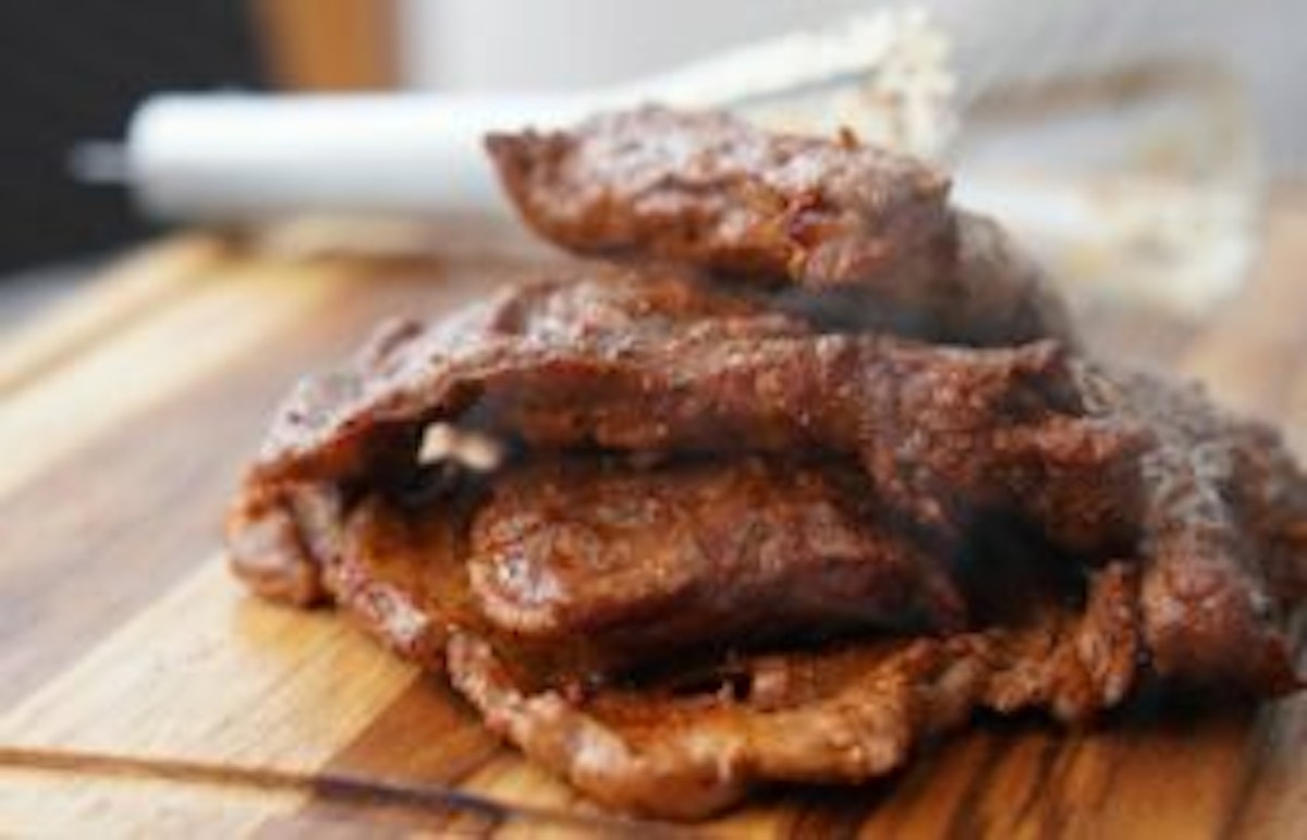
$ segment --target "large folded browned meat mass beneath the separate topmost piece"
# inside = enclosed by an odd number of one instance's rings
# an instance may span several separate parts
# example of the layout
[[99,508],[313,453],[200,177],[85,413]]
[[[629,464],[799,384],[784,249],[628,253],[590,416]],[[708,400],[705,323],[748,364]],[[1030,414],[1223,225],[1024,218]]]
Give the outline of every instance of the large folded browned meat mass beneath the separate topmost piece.
[[[427,667],[452,657],[529,755],[674,816],[755,781],[886,772],[975,708],[1084,720],[1145,666],[1255,695],[1299,684],[1281,614],[1303,591],[1307,481],[1269,430],[1050,343],[818,335],[694,283],[554,281],[452,327],[392,327],[285,410],[233,516],[238,568],[293,601],[325,587]],[[405,506],[433,423],[512,437],[528,466],[490,476],[474,510]],[[838,466],[809,474],[795,453]],[[335,487],[400,501],[346,513]],[[1085,608],[987,606],[959,635],[942,564],[995,514],[1035,526],[1047,563],[1125,560],[1091,573]],[[937,553],[886,517],[938,526]],[[976,573],[1031,590],[992,561]],[[720,659],[834,628],[914,633],[914,616],[944,635]],[[728,683],[746,693],[664,686],[704,656],[742,667]],[[648,669],[667,675],[596,682]]]

